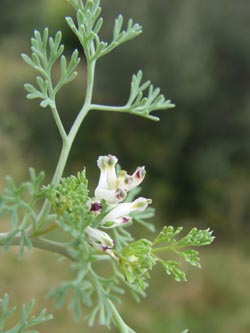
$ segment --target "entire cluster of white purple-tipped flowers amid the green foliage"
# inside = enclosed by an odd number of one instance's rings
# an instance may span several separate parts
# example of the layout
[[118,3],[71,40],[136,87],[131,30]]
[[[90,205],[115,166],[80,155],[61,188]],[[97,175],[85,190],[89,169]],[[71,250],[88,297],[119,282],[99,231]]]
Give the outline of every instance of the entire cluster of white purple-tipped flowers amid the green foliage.
[[[139,197],[132,202],[124,202],[128,192],[137,187],[145,177],[145,168],[138,167],[132,175],[117,171],[118,159],[115,156],[100,156],[97,165],[101,171],[95,197],[89,202],[89,210],[95,216],[102,216],[99,227],[109,229],[132,221],[131,213],[144,211],[151,199]],[[103,210],[104,214],[103,214]],[[98,228],[85,229],[89,243],[98,250],[108,251],[114,246],[112,238]]]

